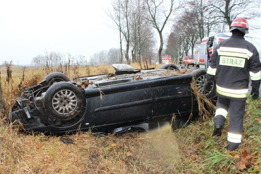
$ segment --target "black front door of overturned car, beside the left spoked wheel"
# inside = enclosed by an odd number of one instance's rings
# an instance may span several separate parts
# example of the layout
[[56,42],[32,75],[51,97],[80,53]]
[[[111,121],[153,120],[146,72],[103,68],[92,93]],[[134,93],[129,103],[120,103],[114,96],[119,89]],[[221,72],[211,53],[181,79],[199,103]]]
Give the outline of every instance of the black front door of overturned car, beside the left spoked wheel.
[[148,82],[138,80],[100,87],[100,93],[91,97],[87,106],[93,125],[108,130],[148,119],[153,102]]

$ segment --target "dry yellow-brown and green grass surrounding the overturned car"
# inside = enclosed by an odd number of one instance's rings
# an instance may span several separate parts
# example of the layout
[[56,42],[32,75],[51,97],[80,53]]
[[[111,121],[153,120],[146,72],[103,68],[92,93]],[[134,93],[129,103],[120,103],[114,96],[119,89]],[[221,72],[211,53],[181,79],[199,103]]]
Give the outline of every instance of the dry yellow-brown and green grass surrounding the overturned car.
[[[139,68],[137,64],[132,64]],[[159,65],[157,65],[159,66]],[[153,66],[152,66],[153,67]],[[158,68],[158,67],[156,67]],[[8,71],[7,71],[8,70]],[[11,76],[10,76],[11,70]],[[114,72],[111,66],[2,67],[5,110],[0,119],[0,173],[261,173],[261,98],[247,100],[240,148],[225,149],[229,118],[221,144],[214,144],[213,115],[172,132],[98,136],[27,135],[6,121],[20,89],[39,83],[50,72],[75,76]],[[65,144],[61,138],[70,138]]]

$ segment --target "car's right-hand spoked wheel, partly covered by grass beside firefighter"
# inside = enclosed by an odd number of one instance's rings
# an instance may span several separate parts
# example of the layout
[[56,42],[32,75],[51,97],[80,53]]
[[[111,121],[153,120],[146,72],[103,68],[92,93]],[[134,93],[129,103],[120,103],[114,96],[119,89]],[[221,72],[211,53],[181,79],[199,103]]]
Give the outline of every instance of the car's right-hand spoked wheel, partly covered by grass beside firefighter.
[[[192,77],[196,80],[198,90],[204,94],[204,83],[206,82],[206,69],[196,69],[191,72]],[[209,93],[204,94],[207,99],[212,99],[217,96],[216,93],[216,81],[211,84],[211,90]]]

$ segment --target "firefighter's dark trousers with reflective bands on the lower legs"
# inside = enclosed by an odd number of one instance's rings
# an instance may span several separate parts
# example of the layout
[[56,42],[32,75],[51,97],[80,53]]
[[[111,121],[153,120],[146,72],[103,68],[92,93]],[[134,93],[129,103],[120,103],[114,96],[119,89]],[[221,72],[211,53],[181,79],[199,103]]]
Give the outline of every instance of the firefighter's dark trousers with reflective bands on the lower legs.
[[235,101],[233,99],[226,99],[218,96],[216,106],[217,110],[214,125],[219,124],[224,127],[226,116],[229,111],[230,122],[227,137],[227,149],[230,151],[235,150],[241,143],[246,101]]

